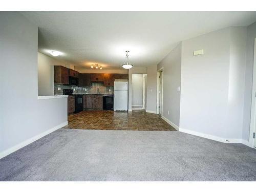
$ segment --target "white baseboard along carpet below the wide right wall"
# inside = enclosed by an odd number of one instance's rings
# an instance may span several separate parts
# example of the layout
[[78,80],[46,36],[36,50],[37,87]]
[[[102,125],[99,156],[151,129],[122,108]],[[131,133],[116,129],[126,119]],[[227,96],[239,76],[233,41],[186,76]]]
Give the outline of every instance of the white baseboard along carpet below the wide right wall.
[[211,140],[223,142],[223,143],[242,143],[244,145],[252,147],[252,146],[250,146],[250,143],[248,141],[243,140],[243,139],[228,139],[228,138],[226,139],[226,138],[223,138],[223,137],[217,137],[217,136],[208,135],[208,134],[204,134],[204,133],[200,133],[200,132],[195,132],[195,131],[191,131],[191,130],[187,130],[187,129],[182,129],[182,128],[180,128],[179,131],[183,132],[183,133],[187,133],[187,134],[203,137],[203,138],[206,138],[206,139],[211,139]]

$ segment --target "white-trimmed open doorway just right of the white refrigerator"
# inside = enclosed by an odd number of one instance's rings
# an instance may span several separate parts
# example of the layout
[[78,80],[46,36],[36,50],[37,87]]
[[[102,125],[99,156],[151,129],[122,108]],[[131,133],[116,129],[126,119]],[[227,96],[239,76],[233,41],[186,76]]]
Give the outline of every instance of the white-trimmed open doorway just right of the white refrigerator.
[[132,111],[145,110],[146,74],[132,74]]

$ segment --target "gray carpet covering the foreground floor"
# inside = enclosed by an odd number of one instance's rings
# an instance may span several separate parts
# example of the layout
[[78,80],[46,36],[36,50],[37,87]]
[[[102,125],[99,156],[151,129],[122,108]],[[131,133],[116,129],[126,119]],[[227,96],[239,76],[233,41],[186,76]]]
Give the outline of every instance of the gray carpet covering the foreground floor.
[[0,160],[1,181],[256,181],[256,150],[181,132],[57,130]]

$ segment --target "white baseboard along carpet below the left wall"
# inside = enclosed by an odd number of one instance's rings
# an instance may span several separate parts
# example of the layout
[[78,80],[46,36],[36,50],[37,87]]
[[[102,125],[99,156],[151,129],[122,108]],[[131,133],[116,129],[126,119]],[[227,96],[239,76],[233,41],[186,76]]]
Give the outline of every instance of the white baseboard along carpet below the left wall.
[[36,135],[36,136],[34,136],[34,137],[32,137],[32,138],[26,140],[26,141],[23,141],[23,142],[21,142],[21,143],[15,145],[15,146],[13,146],[13,147],[11,147],[11,148],[8,148],[8,150],[5,150],[5,151],[3,151],[3,152],[0,153],[0,159],[3,158],[3,157],[5,157],[5,156],[7,156],[7,155],[9,155],[9,154],[11,154],[11,153],[13,153],[13,152],[15,152],[15,151],[17,151],[17,150],[19,150],[20,148],[22,148],[22,147],[24,147],[24,146],[26,146],[26,145],[28,145],[28,144],[30,144],[30,143],[32,143],[32,142],[34,142],[34,141],[36,141],[36,140],[38,140],[38,139],[40,139],[40,138],[42,138],[42,137],[44,137],[44,136],[46,136],[46,135],[52,133],[52,132],[54,132],[54,131],[60,129],[60,128],[63,127],[63,126],[66,126],[67,124],[68,124],[68,121],[63,122],[63,123],[61,123],[61,124],[59,124],[59,125],[53,127],[52,129],[47,130],[46,132],[43,132],[43,133],[41,133],[41,134],[39,134],[39,135]]

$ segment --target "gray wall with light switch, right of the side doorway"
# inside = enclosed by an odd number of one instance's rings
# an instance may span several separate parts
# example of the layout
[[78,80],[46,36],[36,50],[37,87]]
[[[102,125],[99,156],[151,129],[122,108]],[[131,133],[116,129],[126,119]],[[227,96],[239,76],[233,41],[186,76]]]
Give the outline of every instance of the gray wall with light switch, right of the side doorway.
[[[163,114],[162,116],[179,126],[181,83],[181,44],[174,48],[159,64],[163,67]],[[169,114],[168,114],[169,111]]]

